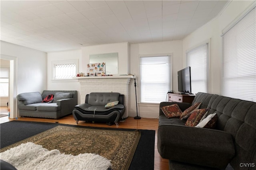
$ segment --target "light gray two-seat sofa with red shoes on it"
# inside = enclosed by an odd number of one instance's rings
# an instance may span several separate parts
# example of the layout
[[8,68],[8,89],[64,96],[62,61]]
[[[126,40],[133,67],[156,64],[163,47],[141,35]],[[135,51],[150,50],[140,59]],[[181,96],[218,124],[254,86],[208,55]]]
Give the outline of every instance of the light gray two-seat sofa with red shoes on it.
[[[49,94],[54,98],[51,103],[43,103]],[[75,90],[44,90],[40,92],[21,93],[17,96],[19,115],[24,117],[44,117],[59,119],[71,114],[78,102]]]

